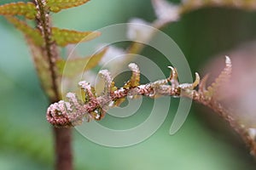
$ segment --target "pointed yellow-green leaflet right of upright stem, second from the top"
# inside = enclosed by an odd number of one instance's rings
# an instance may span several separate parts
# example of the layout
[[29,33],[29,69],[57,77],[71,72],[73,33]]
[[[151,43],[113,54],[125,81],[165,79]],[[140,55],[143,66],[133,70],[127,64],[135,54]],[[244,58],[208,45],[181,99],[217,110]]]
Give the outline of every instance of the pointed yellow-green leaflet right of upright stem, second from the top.
[[66,29],[52,28],[52,40],[59,46],[66,46],[70,43],[86,42],[100,36],[98,31],[73,31]]

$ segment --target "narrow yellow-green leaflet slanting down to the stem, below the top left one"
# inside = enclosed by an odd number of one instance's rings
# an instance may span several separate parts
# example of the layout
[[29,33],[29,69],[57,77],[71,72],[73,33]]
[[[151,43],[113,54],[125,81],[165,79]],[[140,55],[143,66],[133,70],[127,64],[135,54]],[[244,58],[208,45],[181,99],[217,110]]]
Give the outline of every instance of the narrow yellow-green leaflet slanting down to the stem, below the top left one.
[[12,23],[18,30],[22,31],[22,33],[25,34],[27,38],[30,38],[38,46],[44,43],[44,39],[38,29],[28,26],[26,22],[19,20],[13,16],[6,16],[5,18],[9,20],[9,22]]

